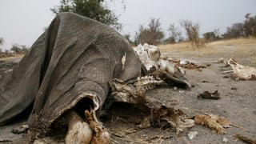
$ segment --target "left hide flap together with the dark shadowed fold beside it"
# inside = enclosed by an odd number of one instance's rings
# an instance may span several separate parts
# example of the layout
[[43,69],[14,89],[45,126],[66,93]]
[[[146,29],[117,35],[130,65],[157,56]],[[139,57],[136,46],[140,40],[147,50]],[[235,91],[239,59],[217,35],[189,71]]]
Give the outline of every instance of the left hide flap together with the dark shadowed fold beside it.
[[54,51],[54,45],[59,25],[60,18],[54,18],[46,32],[31,46],[30,52],[22,58],[21,62],[10,73],[2,76],[0,80],[2,87],[0,93],[0,123],[2,125],[10,122],[16,115],[26,110],[35,100],[37,101],[35,106],[43,106],[42,92],[46,91],[41,90],[38,94],[38,90],[40,87],[47,88],[46,84],[42,84],[42,82],[46,78],[46,71],[53,53],[57,53]]

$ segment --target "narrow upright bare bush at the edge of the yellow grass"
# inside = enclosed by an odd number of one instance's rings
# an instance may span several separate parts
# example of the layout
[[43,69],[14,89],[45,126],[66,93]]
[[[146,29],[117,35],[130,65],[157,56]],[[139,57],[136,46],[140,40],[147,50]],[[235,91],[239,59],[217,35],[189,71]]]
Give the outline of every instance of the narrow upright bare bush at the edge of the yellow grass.
[[192,42],[192,45],[198,46],[199,45],[199,24],[193,23],[189,20],[181,20],[180,21],[181,26],[186,31],[186,36],[190,42]]

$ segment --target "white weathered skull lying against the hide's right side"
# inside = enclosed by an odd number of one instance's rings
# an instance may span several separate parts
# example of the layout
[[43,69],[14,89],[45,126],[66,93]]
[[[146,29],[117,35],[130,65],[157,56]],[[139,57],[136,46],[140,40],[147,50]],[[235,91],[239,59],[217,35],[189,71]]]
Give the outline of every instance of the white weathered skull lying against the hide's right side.
[[186,78],[186,71],[180,66],[180,62],[172,58],[162,57],[157,46],[138,45],[134,48],[138,58],[146,66],[146,70],[154,77],[161,78],[167,83],[178,83],[191,88],[191,84]]

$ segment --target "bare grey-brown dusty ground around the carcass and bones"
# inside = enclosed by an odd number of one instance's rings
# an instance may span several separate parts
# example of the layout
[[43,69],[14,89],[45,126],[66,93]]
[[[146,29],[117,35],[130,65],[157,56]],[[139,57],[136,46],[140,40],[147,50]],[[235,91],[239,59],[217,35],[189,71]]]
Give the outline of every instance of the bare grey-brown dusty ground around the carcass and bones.
[[[169,57],[174,54],[165,53]],[[177,55],[176,55],[177,56]],[[111,143],[243,143],[235,134],[242,134],[251,139],[256,139],[256,82],[235,81],[230,74],[222,74],[224,70],[231,70],[223,63],[215,63],[216,58],[180,57],[197,65],[206,66],[202,69],[186,70],[187,78],[192,83],[191,90],[176,87],[159,87],[149,90],[146,95],[158,98],[162,102],[182,110],[186,117],[196,114],[216,114],[228,118],[234,126],[226,128],[226,134],[217,134],[206,126],[194,125],[185,129],[180,135],[170,126],[151,126],[146,129],[137,129],[136,119],[138,110],[134,106],[115,104],[118,109],[112,110],[108,118],[102,118],[104,126],[111,134]],[[0,61],[0,74],[18,62],[18,58]],[[199,99],[198,94],[204,91],[218,90],[220,99]],[[125,111],[125,112],[124,112]],[[14,127],[26,124],[26,117],[19,116],[14,123],[0,126],[0,143],[26,143],[22,134],[12,134]],[[62,127],[65,131],[66,127]],[[56,129],[59,129],[56,127]],[[190,140],[187,134],[197,131],[198,135]],[[55,142],[64,143],[65,133],[54,136]]]

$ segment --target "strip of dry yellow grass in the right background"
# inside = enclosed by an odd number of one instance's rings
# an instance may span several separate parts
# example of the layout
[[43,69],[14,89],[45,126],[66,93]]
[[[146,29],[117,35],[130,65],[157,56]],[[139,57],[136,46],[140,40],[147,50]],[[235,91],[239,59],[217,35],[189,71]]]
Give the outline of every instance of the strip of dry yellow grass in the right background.
[[159,45],[164,54],[174,58],[235,58],[238,62],[256,66],[256,38],[237,38],[206,43],[200,48],[190,42]]

